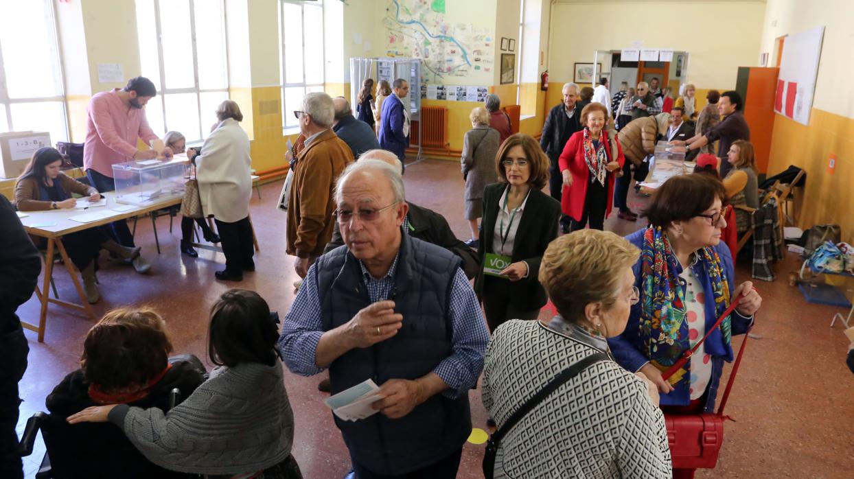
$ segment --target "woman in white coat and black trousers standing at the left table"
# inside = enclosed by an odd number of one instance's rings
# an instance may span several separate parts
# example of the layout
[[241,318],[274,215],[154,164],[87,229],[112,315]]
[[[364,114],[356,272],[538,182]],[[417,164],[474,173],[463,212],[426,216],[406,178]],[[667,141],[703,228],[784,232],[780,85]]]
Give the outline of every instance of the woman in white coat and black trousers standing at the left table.
[[225,254],[225,270],[215,276],[223,281],[242,281],[243,272],[255,271],[249,224],[249,137],[238,123],[243,114],[236,102],[220,103],[216,116],[219,124],[205,140],[202,151],[188,149],[187,157],[196,165],[202,211],[213,214]]

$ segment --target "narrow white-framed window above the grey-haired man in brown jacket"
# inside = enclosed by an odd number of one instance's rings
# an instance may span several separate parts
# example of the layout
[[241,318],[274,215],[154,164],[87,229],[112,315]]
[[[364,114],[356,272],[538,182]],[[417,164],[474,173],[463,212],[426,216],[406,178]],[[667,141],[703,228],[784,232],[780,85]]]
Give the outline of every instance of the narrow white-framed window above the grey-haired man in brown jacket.
[[279,52],[282,54],[282,127],[294,131],[302,96],[324,87],[323,2],[279,2]]

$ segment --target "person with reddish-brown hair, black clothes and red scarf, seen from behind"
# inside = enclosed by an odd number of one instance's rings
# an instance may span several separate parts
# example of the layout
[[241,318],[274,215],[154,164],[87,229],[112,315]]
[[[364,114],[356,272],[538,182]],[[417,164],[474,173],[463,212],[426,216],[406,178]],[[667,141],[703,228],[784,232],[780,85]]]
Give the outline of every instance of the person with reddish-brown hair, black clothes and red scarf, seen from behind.
[[163,318],[149,308],[107,313],[89,330],[81,368],[69,373],[45,400],[50,419],[47,447],[56,476],[88,479],[158,477],[186,474],[145,459],[112,424],[67,424],[66,418],[89,406],[127,404],[169,409],[173,388],[187,398],[204,381],[195,356],[170,362],[172,343]]

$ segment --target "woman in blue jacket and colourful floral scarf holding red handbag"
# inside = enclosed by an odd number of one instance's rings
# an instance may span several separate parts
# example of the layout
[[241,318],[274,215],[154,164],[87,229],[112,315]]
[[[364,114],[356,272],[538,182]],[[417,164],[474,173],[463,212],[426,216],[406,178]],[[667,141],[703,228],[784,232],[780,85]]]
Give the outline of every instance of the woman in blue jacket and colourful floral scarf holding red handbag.
[[[732,335],[745,334],[762,305],[750,281],[735,285],[732,256],[721,242],[725,197],[723,184],[709,175],[670,178],[646,210],[650,225],[626,238],[640,248],[634,267],[640,301],[623,334],[608,342],[617,363],[658,385],[664,412],[714,412],[723,362],[733,360]],[[735,312],[664,380],[662,372],[739,296]],[[693,470],[674,470],[674,477],[693,477]]]

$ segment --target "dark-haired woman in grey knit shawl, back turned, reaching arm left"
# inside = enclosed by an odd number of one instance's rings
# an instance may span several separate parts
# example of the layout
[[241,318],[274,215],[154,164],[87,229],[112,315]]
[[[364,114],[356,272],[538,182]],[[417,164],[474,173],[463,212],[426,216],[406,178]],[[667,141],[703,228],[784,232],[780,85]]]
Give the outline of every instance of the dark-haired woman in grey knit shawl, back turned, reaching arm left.
[[211,310],[208,352],[219,365],[164,414],[125,404],[87,407],[71,424],[109,421],[151,462],[209,479],[252,475],[301,478],[290,450],[294,414],[275,349],[277,319],[260,295],[231,289]]

